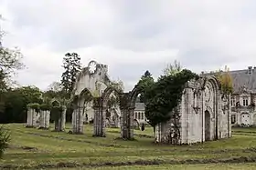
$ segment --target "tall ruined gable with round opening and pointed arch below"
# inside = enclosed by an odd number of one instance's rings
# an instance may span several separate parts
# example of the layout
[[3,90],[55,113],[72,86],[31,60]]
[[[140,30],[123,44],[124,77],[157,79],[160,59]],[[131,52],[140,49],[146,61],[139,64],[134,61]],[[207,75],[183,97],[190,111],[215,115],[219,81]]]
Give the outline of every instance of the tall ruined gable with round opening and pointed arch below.
[[[106,90],[112,85],[112,81],[108,76],[107,65],[101,65],[95,61],[91,61],[89,65],[82,69],[77,76],[77,81],[74,85],[72,101],[74,112],[72,114],[72,133],[83,134],[83,124],[93,121],[94,135],[105,136],[103,130],[106,126],[106,120],[109,125],[120,126],[121,113],[111,114],[113,117],[106,117],[106,112],[110,110],[106,103],[103,104],[102,94],[107,93]],[[108,98],[113,95],[111,91]],[[119,97],[119,95],[114,95]],[[115,112],[120,112],[120,108],[112,108]],[[108,118],[108,119],[107,119]],[[104,126],[104,128],[101,127]]]

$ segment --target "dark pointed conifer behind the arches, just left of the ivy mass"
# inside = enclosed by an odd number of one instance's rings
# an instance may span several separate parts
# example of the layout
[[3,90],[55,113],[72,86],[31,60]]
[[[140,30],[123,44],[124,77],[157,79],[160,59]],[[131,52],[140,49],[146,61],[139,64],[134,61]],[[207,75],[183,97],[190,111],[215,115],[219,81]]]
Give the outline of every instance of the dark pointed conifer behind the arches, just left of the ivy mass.
[[149,71],[146,71],[144,75],[142,75],[141,79],[137,83],[137,89],[140,92],[140,102],[145,103],[146,98],[144,97],[145,90],[154,85],[154,78],[150,74]]

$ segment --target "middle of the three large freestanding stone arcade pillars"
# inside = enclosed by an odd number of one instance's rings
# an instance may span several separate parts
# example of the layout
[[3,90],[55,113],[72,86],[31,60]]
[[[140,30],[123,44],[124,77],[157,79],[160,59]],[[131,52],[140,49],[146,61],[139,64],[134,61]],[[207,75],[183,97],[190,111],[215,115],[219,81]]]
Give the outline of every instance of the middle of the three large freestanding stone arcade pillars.
[[106,136],[106,107],[103,107],[102,97],[96,97],[93,101],[94,120],[93,136]]

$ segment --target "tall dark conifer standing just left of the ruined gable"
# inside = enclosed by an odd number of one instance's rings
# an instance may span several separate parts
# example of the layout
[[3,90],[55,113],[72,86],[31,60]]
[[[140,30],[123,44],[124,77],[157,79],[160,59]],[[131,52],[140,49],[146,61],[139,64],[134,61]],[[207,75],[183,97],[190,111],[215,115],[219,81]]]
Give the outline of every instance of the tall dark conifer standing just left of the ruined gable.
[[67,53],[63,58],[62,66],[65,71],[61,75],[61,85],[63,87],[63,91],[69,95],[68,97],[70,97],[76,82],[76,75],[81,70],[80,55],[76,53]]

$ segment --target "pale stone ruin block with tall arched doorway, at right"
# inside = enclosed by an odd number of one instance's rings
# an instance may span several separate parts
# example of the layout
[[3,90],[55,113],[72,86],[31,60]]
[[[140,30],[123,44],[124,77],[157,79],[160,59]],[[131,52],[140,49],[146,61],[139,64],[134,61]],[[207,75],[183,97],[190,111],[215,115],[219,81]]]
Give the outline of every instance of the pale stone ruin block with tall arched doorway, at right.
[[230,137],[229,100],[214,76],[188,82],[174,116],[156,126],[155,140],[181,145]]

